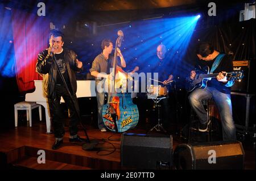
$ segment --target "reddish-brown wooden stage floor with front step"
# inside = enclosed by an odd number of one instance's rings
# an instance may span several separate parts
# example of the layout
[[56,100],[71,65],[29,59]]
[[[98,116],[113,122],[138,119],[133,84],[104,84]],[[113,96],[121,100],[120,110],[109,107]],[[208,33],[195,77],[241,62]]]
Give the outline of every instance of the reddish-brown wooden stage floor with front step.
[[[85,151],[82,144],[68,141],[68,127],[65,127],[64,144],[58,150],[52,150],[55,141],[53,134],[46,134],[45,122],[36,122],[32,127],[18,125],[16,128],[0,130],[1,166],[17,166],[30,169],[126,169],[121,167],[121,133],[100,132],[92,126],[86,126],[91,140],[99,140],[96,150]],[[135,128],[130,133],[146,133]],[[155,133],[155,132],[154,132]],[[157,133],[156,133],[157,134]],[[82,129],[79,136],[85,137]],[[117,140],[117,141],[116,141]],[[184,143],[174,136],[173,148]],[[244,146],[245,169],[255,169],[255,146]],[[46,151],[46,164],[38,164],[38,150]],[[12,167],[10,167],[12,168]]]

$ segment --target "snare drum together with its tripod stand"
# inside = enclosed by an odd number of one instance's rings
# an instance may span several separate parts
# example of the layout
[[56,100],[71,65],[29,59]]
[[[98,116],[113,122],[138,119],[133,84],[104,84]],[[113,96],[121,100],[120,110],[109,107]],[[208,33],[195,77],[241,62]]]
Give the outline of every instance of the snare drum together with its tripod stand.
[[172,81],[163,83],[161,81],[151,79],[152,81],[160,82],[163,85],[148,85],[147,86],[147,98],[152,99],[154,101],[154,107],[158,108],[158,124],[156,124],[153,128],[150,129],[150,132],[156,129],[156,131],[163,131],[166,132],[166,130],[163,128],[163,125],[161,123],[161,118],[160,118],[160,100],[168,98],[168,87],[167,85],[170,84]]

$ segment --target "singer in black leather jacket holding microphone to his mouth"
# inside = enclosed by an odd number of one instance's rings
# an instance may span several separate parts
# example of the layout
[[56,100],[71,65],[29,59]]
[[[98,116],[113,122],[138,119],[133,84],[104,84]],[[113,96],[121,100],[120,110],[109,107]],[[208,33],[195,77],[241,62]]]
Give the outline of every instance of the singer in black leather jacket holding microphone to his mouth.
[[[64,119],[63,112],[60,107],[61,96],[65,100],[69,111],[71,121],[69,122],[69,141],[70,142],[83,142],[85,139],[77,136],[77,123],[79,117],[75,110],[75,105],[78,108],[76,98],[76,72],[82,70],[82,62],[77,60],[77,55],[72,50],[63,49],[64,35],[60,31],[52,31],[49,37],[49,48],[39,53],[38,63],[36,64],[36,71],[40,74],[48,74],[44,77],[44,92],[48,98],[49,111],[52,117],[53,131],[55,134],[55,142],[52,149],[59,149],[63,144],[64,136]],[[55,61],[57,65],[55,64]],[[64,83],[57,71],[59,66],[61,74],[63,75],[72,98],[69,96],[68,91],[65,89]],[[77,110],[79,113],[79,110]]]

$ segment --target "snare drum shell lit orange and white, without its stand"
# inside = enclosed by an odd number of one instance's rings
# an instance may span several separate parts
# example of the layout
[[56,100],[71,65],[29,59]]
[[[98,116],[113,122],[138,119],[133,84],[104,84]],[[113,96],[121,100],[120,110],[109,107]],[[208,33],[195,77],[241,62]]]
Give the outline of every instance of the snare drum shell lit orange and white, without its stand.
[[168,96],[168,89],[166,86],[154,86],[154,85],[148,85],[147,86],[147,96],[150,97],[166,97]]

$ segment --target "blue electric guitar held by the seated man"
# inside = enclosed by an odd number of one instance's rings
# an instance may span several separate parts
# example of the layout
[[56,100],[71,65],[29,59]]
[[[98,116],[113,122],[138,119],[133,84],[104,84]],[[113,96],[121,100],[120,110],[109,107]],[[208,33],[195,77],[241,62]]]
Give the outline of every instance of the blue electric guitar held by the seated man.
[[[207,82],[210,81],[212,78],[216,78],[218,73],[212,73],[210,74],[209,67],[206,66],[203,70],[200,72],[206,72],[205,73],[199,73],[198,70],[196,70],[196,76],[195,79],[191,79],[188,77],[186,79],[187,86],[185,87],[188,92],[193,91],[196,88],[205,89],[207,87]],[[235,81],[241,81],[243,78],[243,71],[232,71],[228,73],[224,73],[224,76],[226,76],[228,79],[234,79]]]

